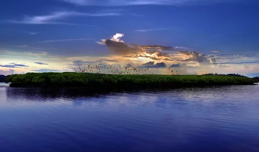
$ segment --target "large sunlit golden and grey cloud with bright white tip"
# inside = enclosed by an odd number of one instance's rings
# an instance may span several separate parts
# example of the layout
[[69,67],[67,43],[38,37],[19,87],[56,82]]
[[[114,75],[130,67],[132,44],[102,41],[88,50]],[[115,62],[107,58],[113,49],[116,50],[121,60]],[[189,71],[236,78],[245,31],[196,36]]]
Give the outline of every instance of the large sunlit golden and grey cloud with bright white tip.
[[121,37],[124,34],[116,33],[110,39],[101,39],[97,42],[106,45],[117,56],[122,58],[148,58],[156,61],[196,61],[198,63],[207,64],[216,63],[216,58],[207,58],[204,53],[196,51],[177,51],[178,49],[186,49],[185,47],[170,47],[161,45],[145,45],[127,44]]

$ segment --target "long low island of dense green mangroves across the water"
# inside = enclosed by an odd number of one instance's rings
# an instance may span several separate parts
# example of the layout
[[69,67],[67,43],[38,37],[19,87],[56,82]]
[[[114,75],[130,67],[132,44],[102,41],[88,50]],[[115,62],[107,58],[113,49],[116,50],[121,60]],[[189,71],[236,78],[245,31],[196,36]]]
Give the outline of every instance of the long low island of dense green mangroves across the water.
[[253,78],[224,75],[115,75],[97,73],[26,73],[7,76],[10,87],[23,86],[84,86],[91,88],[181,87],[203,85],[247,85]]

